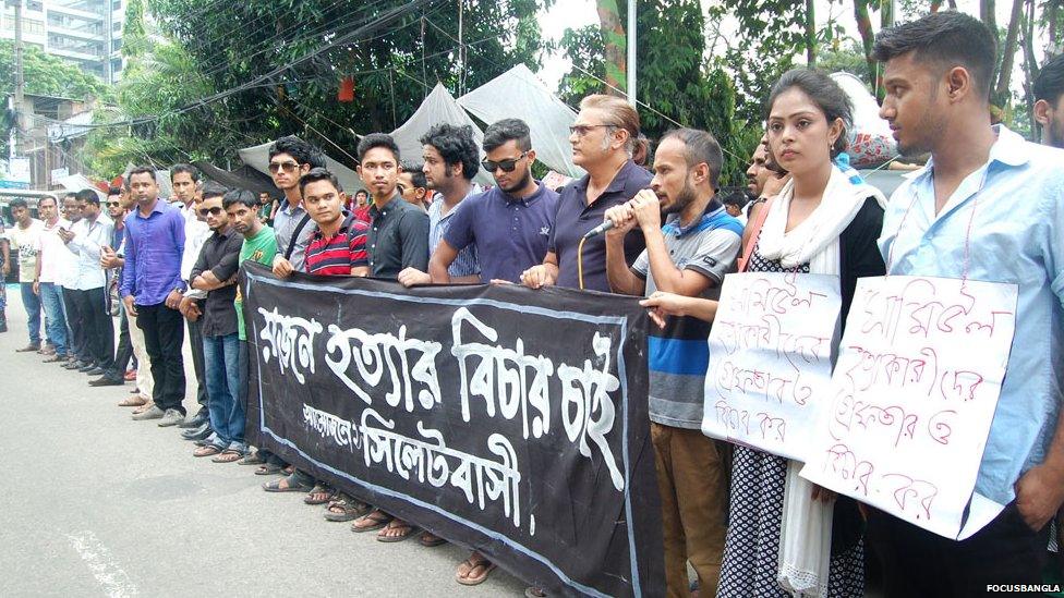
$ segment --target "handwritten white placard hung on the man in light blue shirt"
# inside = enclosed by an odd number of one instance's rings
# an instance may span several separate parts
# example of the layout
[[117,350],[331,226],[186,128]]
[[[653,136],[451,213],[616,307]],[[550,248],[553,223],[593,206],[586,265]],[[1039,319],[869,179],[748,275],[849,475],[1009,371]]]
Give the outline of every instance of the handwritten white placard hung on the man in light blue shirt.
[[802,477],[956,538],[1015,314],[1013,284],[859,280]]

